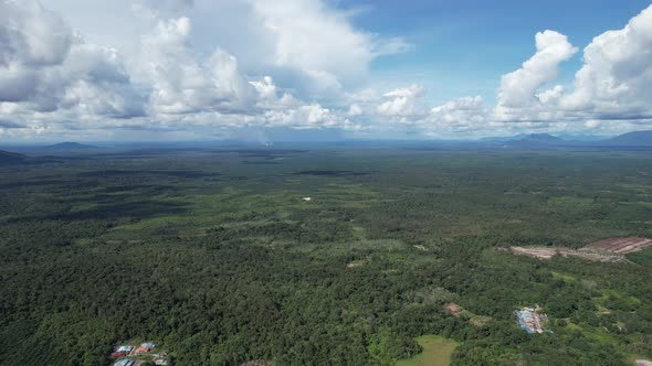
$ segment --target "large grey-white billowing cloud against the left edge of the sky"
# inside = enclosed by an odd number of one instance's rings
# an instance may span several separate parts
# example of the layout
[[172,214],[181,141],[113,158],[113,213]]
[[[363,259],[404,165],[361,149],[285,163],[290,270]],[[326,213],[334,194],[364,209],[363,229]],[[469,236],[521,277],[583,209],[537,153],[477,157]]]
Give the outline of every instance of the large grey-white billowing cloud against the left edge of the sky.
[[117,51],[86,42],[33,0],[0,2],[0,103],[34,112],[143,115]]

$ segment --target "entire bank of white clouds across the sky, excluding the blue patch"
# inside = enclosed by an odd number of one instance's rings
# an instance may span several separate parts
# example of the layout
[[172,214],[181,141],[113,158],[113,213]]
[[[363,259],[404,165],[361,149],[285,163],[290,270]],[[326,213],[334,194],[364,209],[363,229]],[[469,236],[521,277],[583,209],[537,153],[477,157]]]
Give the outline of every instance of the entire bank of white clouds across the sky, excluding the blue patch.
[[[38,0],[0,0],[3,137],[362,126],[388,136],[611,133],[652,122],[652,6],[596,36],[572,83],[558,78],[578,49],[559,32],[536,33],[535,53],[502,76],[488,105],[434,104],[440,95],[425,96],[420,76],[393,89],[382,74],[370,80],[375,60],[412,46],[360,29],[328,0],[43,1],[63,15]],[[124,12],[124,26],[90,3]]]

